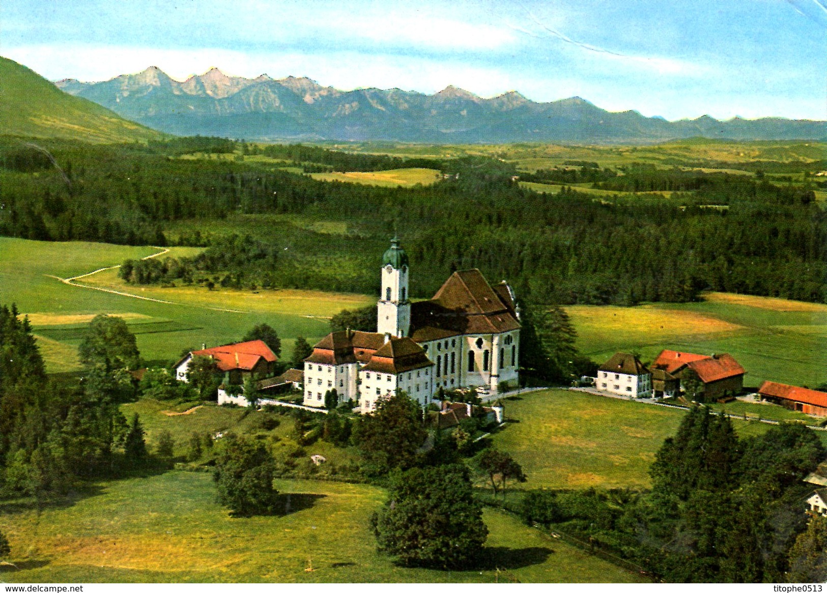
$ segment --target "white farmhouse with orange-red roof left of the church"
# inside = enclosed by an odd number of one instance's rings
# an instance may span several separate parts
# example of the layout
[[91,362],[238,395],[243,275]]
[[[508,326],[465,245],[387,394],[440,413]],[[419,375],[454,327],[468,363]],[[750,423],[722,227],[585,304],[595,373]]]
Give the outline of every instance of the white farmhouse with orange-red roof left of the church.
[[[201,350],[189,352],[175,364],[175,378],[179,381],[187,380],[189,364],[195,356],[207,356],[215,363],[216,370],[224,374],[224,385],[241,385],[247,376],[253,379],[263,379],[275,373],[275,362],[278,358],[270,347],[261,340],[226,344],[213,348],[204,347]],[[220,395],[220,394],[219,394]],[[219,404],[221,400],[219,397]]]

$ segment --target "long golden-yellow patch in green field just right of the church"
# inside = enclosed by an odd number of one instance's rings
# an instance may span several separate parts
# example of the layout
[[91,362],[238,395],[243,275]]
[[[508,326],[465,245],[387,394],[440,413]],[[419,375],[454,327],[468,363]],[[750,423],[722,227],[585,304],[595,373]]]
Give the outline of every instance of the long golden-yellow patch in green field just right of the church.
[[653,337],[734,332],[743,329],[743,326],[701,313],[668,310],[652,305],[638,307],[574,305],[566,307],[566,312],[576,328],[590,328],[592,331],[601,332],[638,330]]

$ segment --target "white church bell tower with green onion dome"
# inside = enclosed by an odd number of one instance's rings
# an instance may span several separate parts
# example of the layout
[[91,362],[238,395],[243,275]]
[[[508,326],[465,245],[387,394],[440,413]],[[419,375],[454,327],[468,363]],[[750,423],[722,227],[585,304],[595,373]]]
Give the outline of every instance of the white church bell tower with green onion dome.
[[382,294],[380,294],[376,331],[394,337],[407,337],[411,326],[408,300],[408,254],[399,246],[399,238],[390,240],[382,256]]

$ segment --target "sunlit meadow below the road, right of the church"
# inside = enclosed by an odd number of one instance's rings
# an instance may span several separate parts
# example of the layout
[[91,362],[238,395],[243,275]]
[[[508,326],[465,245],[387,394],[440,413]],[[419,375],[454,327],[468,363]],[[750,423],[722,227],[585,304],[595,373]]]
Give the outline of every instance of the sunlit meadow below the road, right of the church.
[[[663,439],[675,434],[686,412],[592,395],[543,390],[505,399],[504,428],[492,445],[511,453],[528,481],[521,488],[647,488],[648,470]],[[764,410],[763,418],[795,419],[787,410],[735,402],[731,414]],[[793,413],[794,414],[794,413]],[[770,424],[733,419],[739,437],[767,432]],[[827,433],[817,433],[827,444]],[[482,485],[480,483],[480,485]]]

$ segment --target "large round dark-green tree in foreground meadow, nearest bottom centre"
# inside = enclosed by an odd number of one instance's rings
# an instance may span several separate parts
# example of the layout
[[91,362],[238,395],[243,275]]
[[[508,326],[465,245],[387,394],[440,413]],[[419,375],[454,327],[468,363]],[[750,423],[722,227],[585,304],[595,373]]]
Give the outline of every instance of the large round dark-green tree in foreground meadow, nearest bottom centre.
[[397,472],[371,525],[380,552],[417,566],[473,566],[488,535],[461,465]]

